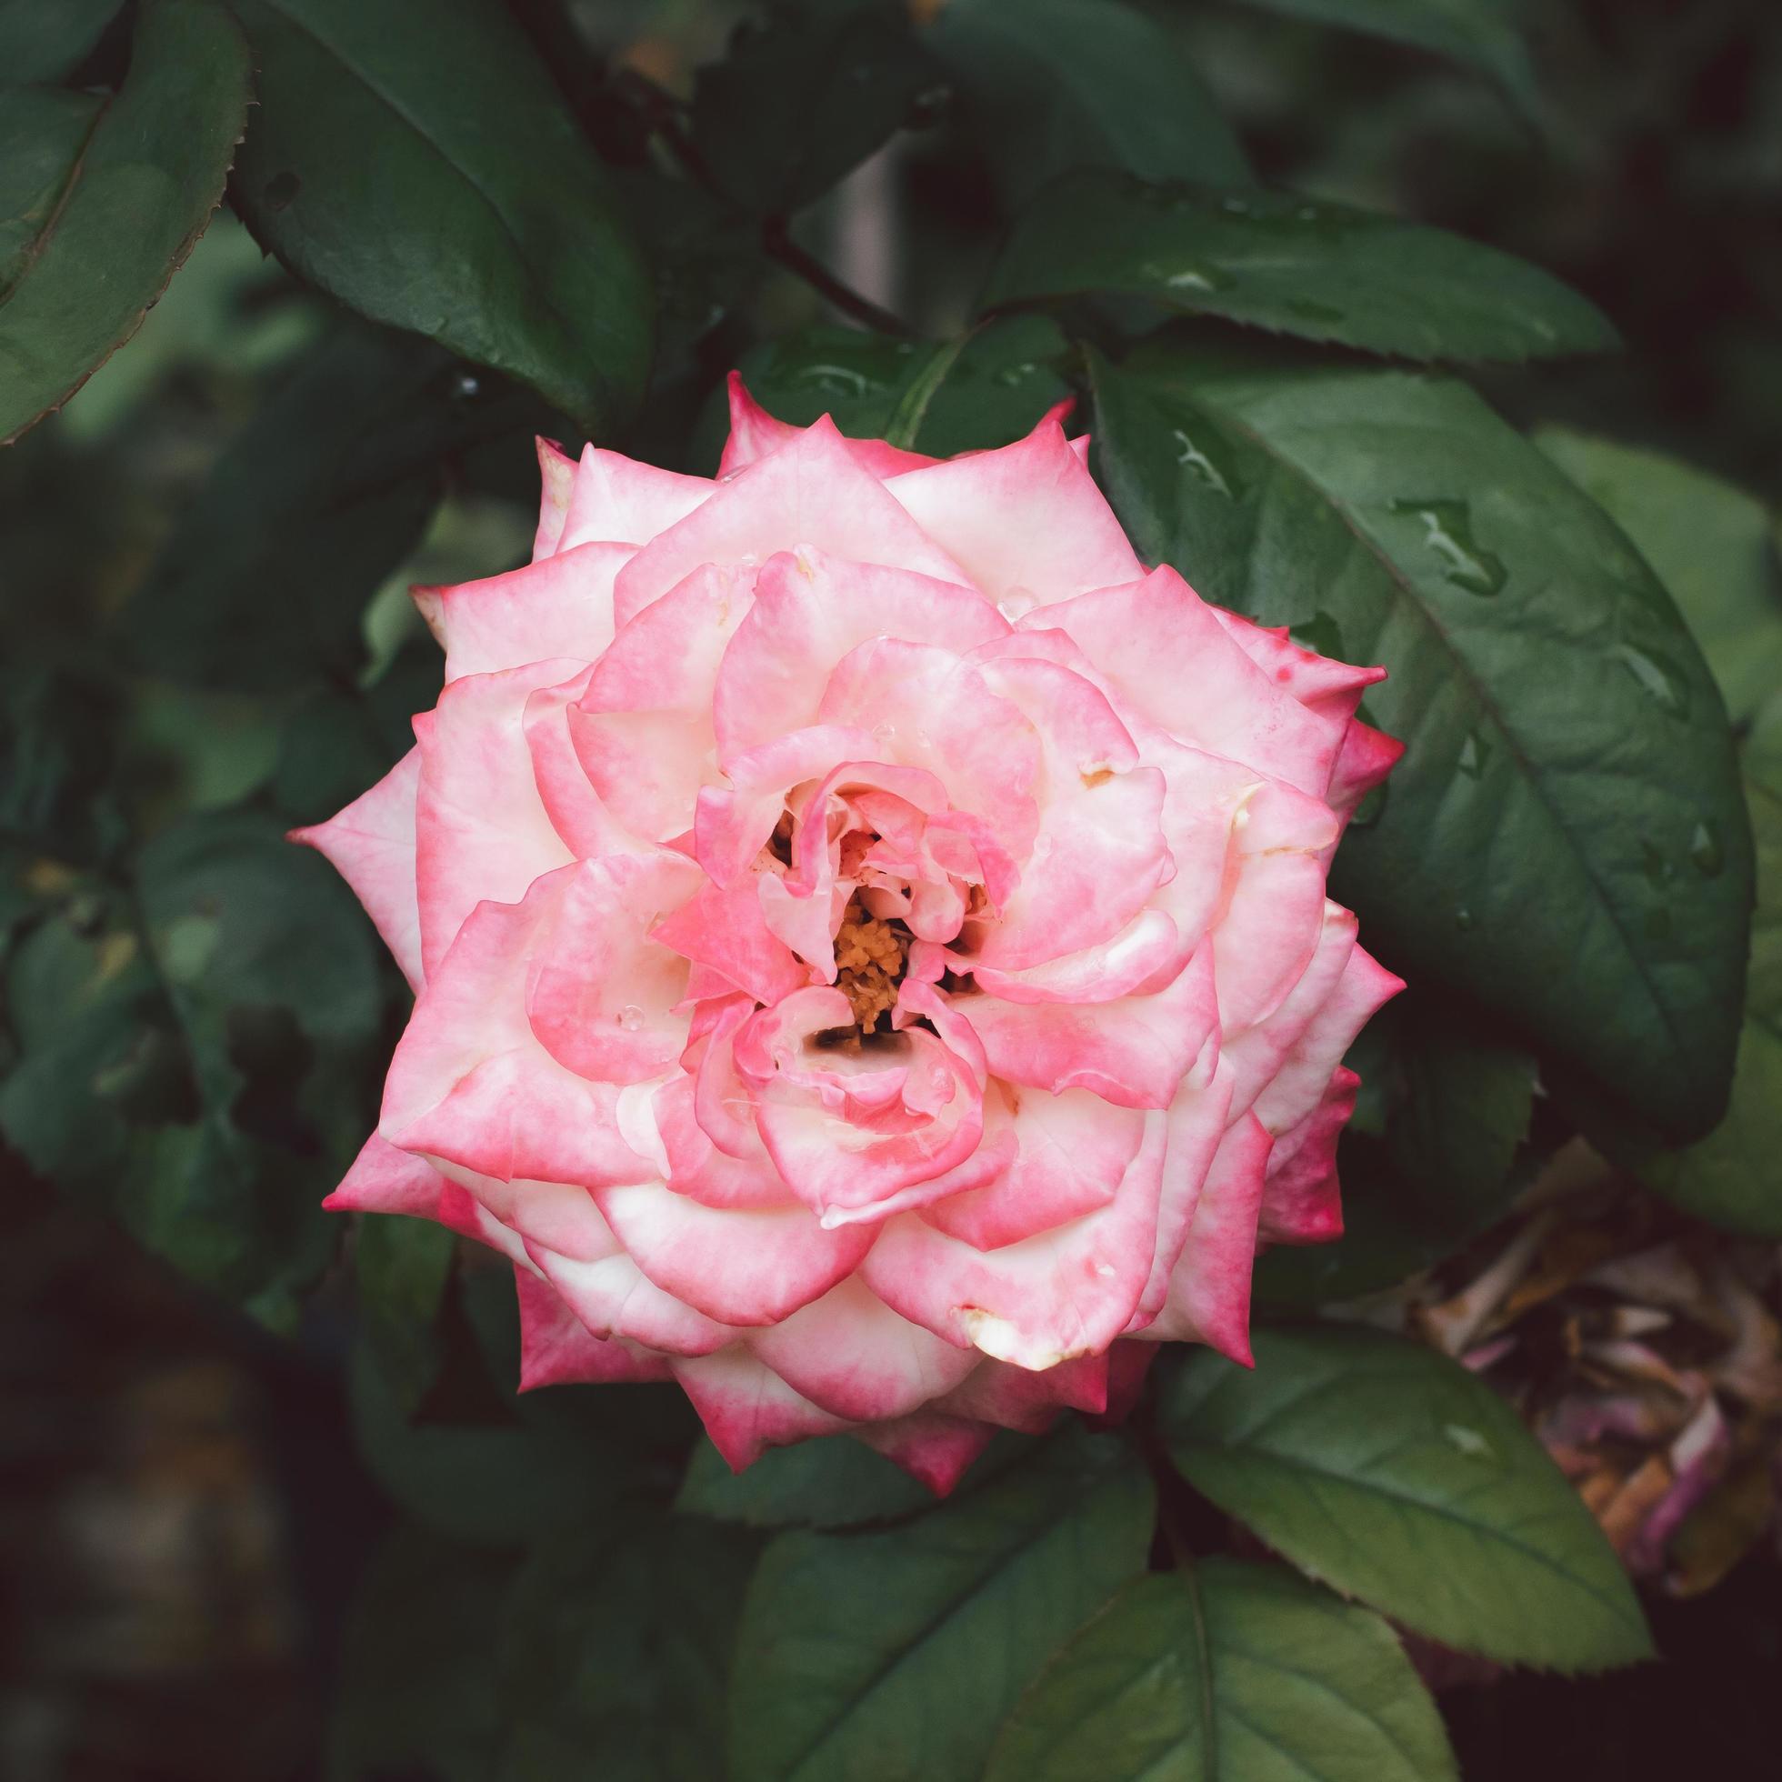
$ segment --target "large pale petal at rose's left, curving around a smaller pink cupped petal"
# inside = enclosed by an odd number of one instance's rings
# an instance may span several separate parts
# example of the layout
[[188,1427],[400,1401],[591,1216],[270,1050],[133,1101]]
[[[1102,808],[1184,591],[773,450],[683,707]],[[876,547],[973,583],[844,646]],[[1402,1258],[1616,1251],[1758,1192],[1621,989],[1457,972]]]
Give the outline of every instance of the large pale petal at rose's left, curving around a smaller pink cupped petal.
[[527,960],[570,877],[483,903],[460,928],[390,1060],[378,1130],[394,1144],[503,1181],[650,1173],[620,1137],[620,1091],[558,1064],[526,1018]]

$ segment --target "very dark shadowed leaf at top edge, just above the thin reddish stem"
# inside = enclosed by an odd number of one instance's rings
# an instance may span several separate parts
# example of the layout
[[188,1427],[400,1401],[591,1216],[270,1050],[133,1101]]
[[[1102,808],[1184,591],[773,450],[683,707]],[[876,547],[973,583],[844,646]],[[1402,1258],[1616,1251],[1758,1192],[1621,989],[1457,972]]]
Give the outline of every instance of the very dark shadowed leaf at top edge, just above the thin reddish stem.
[[786,7],[699,71],[693,143],[732,203],[798,210],[902,128],[939,80],[900,5]]

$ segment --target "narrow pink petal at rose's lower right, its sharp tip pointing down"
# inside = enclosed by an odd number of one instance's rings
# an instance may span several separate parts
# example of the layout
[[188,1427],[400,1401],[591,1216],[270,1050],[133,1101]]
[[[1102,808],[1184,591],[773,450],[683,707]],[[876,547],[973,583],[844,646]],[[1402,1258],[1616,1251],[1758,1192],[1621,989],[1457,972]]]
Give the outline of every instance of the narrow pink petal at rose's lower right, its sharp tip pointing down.
[[1242,1367],[1253,1365],[1249,1278],[1272,1144],[1255,1114],[1228,1128],[1169,1278],[1169,1297],[1157,1319],[1133,1335],[1153,1342],[1205,1342]]

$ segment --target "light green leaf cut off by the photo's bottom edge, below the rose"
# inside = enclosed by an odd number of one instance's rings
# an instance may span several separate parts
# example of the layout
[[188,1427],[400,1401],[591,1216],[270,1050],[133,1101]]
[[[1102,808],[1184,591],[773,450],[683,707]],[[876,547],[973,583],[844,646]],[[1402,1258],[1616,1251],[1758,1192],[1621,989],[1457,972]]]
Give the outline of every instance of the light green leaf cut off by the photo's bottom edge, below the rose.
[[1397,1636],[1279,1566],[1128,1584],[1009,1716],[985,1782],[1442,1782],[1454,1753]]

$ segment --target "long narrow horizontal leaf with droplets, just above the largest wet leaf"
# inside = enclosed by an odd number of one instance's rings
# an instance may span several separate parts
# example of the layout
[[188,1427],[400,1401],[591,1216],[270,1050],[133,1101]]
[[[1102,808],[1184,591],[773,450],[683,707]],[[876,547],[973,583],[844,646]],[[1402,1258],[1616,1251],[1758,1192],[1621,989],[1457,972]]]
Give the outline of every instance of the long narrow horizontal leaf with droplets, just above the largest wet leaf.
[[1060,180],[1018,219],[984,308],[1114,292],[1402,358],[1600,353],[1616,333],[1550,273],[1447,230],[1292,192]]

